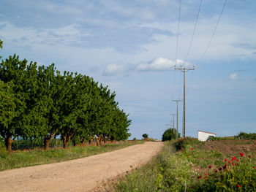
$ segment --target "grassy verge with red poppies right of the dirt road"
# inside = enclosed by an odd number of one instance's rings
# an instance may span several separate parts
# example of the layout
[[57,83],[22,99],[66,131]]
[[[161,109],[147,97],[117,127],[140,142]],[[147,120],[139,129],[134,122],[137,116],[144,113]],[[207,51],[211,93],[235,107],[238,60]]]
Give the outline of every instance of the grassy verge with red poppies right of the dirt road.
[[205,145],[189,138],[165,142],[149,164],[118,180],[110,191],[256,191],[255,151],[235,149],[235,156]]

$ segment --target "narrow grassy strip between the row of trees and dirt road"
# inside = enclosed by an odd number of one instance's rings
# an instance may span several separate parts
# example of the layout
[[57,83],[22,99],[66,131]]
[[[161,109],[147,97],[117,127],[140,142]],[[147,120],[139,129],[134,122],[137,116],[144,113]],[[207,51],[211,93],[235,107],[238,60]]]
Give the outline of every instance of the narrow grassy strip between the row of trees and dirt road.
[[39,164],[50,164],[59,161],[67,161],[75,158],[82,158],[89,155],[105,153],[112,150],[118,150],[130,145],[141,144],[143,141],[136,142],[121,142],[118,144],[107,144],[101,147],[86,146],[86,147],[69,147],[66,150],[63,148],[53,148],[42,150],[18,150],[15,153],[7,155],[6,152],[0,150],[0,171],[5,169],[15,169],[24,166],[34,166]]

